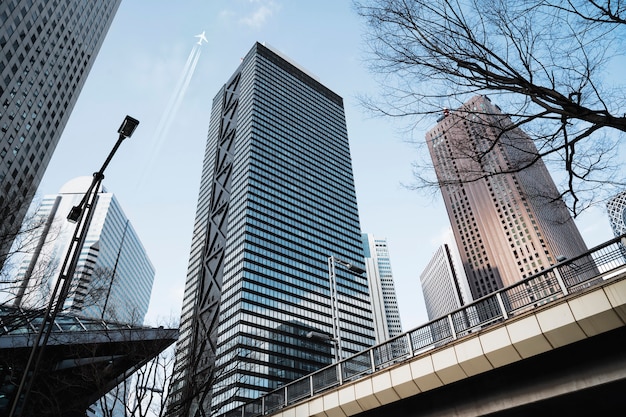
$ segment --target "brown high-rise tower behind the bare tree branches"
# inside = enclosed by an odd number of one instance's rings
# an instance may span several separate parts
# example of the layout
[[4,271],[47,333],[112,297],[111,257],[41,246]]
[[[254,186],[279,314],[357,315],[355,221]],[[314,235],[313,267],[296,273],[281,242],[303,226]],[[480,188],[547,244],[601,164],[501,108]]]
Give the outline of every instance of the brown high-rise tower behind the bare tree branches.
[[444,111],[426,141],[474,299],[587,250],[543,162],[514,172],[537,149],[487,97]]

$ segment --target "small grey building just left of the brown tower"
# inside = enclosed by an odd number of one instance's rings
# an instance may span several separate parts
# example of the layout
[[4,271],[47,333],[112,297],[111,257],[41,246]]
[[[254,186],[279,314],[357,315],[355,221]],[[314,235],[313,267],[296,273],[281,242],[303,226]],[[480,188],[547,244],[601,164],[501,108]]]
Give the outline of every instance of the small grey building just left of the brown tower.
[[454,250],[447,243],[441,245],[420,274],[429,320],[443,317],[471,301],[465,272],[455,262]]

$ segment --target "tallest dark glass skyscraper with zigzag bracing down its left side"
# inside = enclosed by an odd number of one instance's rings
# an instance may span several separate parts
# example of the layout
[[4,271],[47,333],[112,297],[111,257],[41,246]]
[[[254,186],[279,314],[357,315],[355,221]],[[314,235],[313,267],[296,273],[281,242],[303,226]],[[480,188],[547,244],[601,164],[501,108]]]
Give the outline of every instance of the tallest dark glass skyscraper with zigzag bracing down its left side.
[[342,98],[256,43],[213,100],[168,413],[219,415],[333,342],[373,345],[367,279],[341,267],[331,337],[329,257],[362,268],[360,235]]

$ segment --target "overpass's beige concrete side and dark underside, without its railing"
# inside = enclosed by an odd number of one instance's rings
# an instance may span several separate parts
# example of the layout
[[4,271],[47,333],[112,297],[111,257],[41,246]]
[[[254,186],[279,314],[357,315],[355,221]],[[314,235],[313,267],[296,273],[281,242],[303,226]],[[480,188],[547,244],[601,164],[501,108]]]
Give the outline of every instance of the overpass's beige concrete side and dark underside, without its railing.
[[626,415],[626,274],[272,415]]

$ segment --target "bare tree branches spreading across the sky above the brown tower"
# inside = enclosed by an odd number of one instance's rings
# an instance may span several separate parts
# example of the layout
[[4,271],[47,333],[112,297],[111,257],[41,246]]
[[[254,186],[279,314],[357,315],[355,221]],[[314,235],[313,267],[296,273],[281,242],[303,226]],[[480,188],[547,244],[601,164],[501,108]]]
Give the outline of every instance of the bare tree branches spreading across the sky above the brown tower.
[[[624,185],[618,148],[626,90],[616,84],[622,78],[608,75],[623,71],[616,65],[626,2],[355,0],[355,6],[368,25],[370,67],[384,88],[380,98],[364,98],[369,109],[416,126],[488,95],[510,117],[509,129],[528,133],[537,156],[560,171],[562,197],[574,215],[600,197],[600,185]],[[416,172],[423,164],[416,162]],[[418,180],[417,188],[437,184]]]

